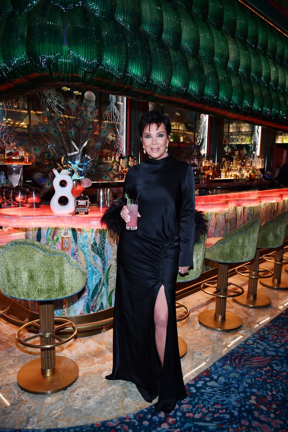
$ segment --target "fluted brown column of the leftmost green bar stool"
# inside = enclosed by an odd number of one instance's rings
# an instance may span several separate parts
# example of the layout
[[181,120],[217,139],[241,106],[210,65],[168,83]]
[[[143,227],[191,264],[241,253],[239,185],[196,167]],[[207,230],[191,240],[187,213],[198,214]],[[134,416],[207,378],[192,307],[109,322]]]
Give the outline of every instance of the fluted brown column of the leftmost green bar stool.
[[[39,320],[41,345],[50,345],[55,343],[53,337],[46,337],[45,334],[53,333],[54,324],[54,300],[48,302],[39,302]],[[54,348],[41,348],[41,374],[43,376],[54,375],[56,371],[56,356]]]

